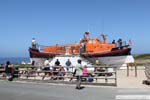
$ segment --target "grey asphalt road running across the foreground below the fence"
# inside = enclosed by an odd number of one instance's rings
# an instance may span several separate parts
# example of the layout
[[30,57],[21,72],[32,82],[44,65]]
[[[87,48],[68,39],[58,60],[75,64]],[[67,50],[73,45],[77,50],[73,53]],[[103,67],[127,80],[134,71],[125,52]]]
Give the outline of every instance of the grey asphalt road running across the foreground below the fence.
[[123,100],[126,95],[150,97],[150,90],[0,81],[0,100]]

